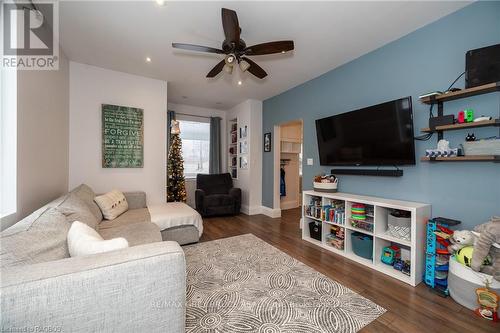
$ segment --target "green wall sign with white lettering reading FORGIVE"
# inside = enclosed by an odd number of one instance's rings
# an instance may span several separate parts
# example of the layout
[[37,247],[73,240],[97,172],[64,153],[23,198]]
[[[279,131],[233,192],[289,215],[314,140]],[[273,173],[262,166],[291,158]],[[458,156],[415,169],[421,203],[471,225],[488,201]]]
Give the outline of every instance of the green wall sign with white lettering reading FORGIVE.
[[102,167],[144,166],[144,112],[102,104]]

